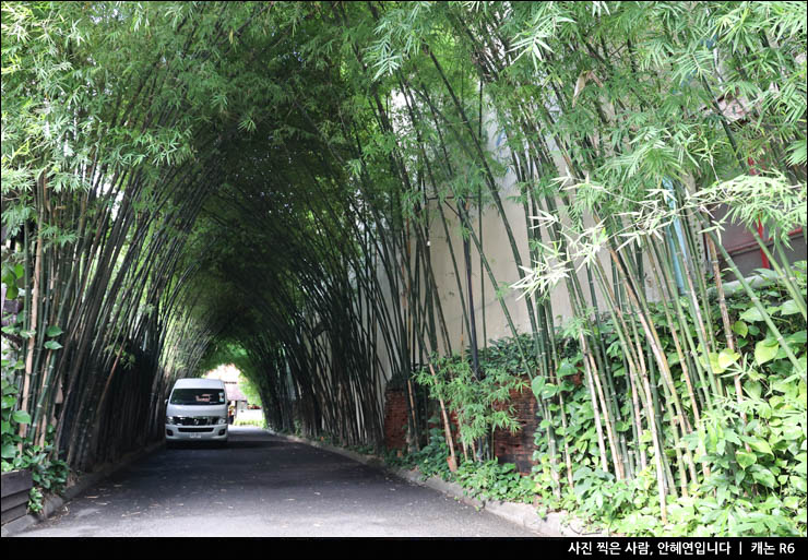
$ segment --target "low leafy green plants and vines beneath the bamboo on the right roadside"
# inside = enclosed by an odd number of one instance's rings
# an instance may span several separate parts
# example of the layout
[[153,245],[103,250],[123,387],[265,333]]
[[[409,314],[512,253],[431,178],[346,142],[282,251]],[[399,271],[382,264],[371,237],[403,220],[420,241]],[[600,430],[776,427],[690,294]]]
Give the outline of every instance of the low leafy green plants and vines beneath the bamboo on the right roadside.
[[[796,263],[793,272],[797,286],[805,293],[805,262]],[[786,344],[804,364],[806,323],[787,289],[769,277],[758,283],[754,290],[783,333]],[[684,372],[665,310],[660,303],[652,303],[651,307],[662,347],[668,354],[677,391],[686,394]],[[665,442],[663,452],[672,465],[677,453],[687,451],[692,454],[700,469],[706,466],[710,473],[708,477],[699,476],[698,484],[691,481],[687,492],[681,492],[677,487],[679,492],[666,497],[667,524],[661,521],[651,433],[647,430],[637,433],[630,421],[630,386],[618,335],[608,318],[601,318],[596,334],[603,337],[605,354],[611,361],[609,367],[614,372],[616,407],[621,418],[616,419],[615,430],[625,439],[634,461],[640,453],[645,453],[647,457],[645,468],[634,465],[632,477],[617,480],[614,474],[601,468],[592,401],[586,383],[582,382],[583,356],[575,337],[560,330],[556,337],[559,382],[550,384],[537,376],[532,383],[534,394],[537,398],[546,400],[546,410],[550,414],[548,417],[542,416],[539,407],[540,422],[534,436],[535,466],[531,478],[521,477],[508,465],[499,465],[496,461],[464,462],[452,476],[445,463],[448,448],[439,429],[431,430],[430,444],[418,454],[390,460],[418,464],[426,476],[454,479],[473,496],[527,502],[535,497],[542,514],[549,510],[566,510],[595,526],[625,535],[805,535],[806,380],[795,371],[794,364],[773,338],[746,293],[729,289],[727,308],[737,341],[736,350],[718,347],[708,354],[698,348],[702,364],[709,361],[718,376],[723,394],[712,395],[712,406],[702,408],[700,424],[678,445],[670,432],[669,412],[665,412],[660,426],[662,441]],[[711,309],[710,319],[712,329],[716,333],[723,332],[717,302]],[[690,327],[694,329],[694,325]],[[497,341],[480,353],[480,367],[486,372],[518,371],[523,364],[520,346],[527,344],[530,341],[522,336]],[[432,396],[444,398],[455,412],[468,403],[486,403],[494,409],[492,403],[504,396],[501,386],[473,381],[467,362],[458,356],[439,362],[436,374],[438,379],[424,370],[418,381],[428,384]],[[740,401],[735,394],[735,377],[740,380]],[[500,379],[508,384],[512,377],[492,376],[491,379]],[[453,386],[453,380],[458,385],[462,382],[473,385],[473,389]],[[656,389],[662,394],[665,388],[658,374],[656,382]],[[697,379],[694,390],[711,392],[711,386],[702,385]],[[565,397],[566,426],[558,414],[558,395]],[[685,400],[682,405],[690,421],[694,422],[689,402]],[[484,408],[471,406],[472,414],[485,417],[476,425],[479,431],[474,430],[475,425],[468,420],[468,414],[464,416],[466,421],[462,422],[461,430],[463,424],[466,425],[466,434],[479,436],[492,429],[496,422],[492,421],[491,412]],[[550,428],[557,439],[556,449],[561,450],[566,445],[570,454],[571,473],[566,472],[559,451],[555,456],[550,453],[547,437]],[[557,468],[555,476],[551,468],[554,462]],[[678,480],[678,473],[673,472],[672,475]],[[572,478],[571,488],[567,484],[567,476]]]

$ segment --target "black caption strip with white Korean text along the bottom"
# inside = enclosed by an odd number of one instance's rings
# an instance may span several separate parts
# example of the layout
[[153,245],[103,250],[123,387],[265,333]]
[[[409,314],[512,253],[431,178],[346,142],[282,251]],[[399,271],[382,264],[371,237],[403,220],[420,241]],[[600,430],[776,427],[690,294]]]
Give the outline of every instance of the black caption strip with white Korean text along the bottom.
[[[21,535],[24,536],[24,535]],[[3,538],[3,549],[19,549],[44,553],[51,549],[60,556],[76,552],[82,559],[104,558],[143,560],[155,551],[170,551],[176,560],[192,558],[221,558],[237,547],[239,556],[252,552],[266,556],[268,546],[275,553],[292,551],[297,558],[323,555],[334,558],[345,551],[355,558],[387,560],[400,558],[415,551],[435,558],[449,552],[453,558],[471,552],[471,558],[490,556],[498,560],[503,555],[538,556],[540,559],[556,558],[805,558],[808,539],[805,537],[536,537],[536,538],[224,538],[224,537],[157,537],[157,538]],[[290,545],[294,548],[277,548]],[[33,548],[32,548],[33,547]],[[38,555],[37,555],[38,556]],[[164,555],[159,555],[162,558]],[[319,558],[319,557],[316,557]]]

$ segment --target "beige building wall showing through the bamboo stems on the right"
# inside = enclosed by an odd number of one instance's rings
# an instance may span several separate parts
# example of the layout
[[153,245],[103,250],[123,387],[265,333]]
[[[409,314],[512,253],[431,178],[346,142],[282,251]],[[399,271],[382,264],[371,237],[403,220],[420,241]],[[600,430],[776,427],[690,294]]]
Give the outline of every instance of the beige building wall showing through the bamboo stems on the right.
[[[510,168],[511,155],[509,147],[506,144],[506,138],[498,128],[495,118],[489,115],[486,118],[485,131],[487,136],[486,148],[492,154],[501,164],[507,166],[507,172],[497,179],[499,186],[499,196],[502,201],[502,206],[511,226],[511,230],[516,241],[519,254],[521,259],[521,265],[525,267],[533,267],[534,263],[530,260],[528,247],[527,247],[527,228],[537,227],[537,222],[533,219],[526,219],[525,210],[521,202],[513,200],[519,195],[519,189],[516,186],[516,176]],[[551,151],[551,156],[556,160],[557,169],[561,171],[559,175],[569,175],[567,166],[556,150],[556,146],[551,139],[547,141],[548,146]],[[569,194],[569,193],[568,193]],[[440,215],[438,214],[438,201],[430,201],[429,206],[429,250],[432,270],[435,273],[435,281],[437,283],[437,289],[442,306],[443,317],[449,333],[449,339],[451,349],[453,353],[460,353],[462,349],[468,347],[468,332],[463,319],[463,303],[468,305],[467,293],[466,293],[466,273],[465,273],[465,261],[463,257],[463,239],[461,236],[460,217],[456,212],[447,207],[443,204],[443,214],[445,216],[449,229],[449,236],[447,236],[443,225],[441,224]],[[450,204],[453,203],[450,201]],[[557,206],[561,208],[562,215],[559,218],[562,223],[569,223],[563,215],[565,204],[560,198],[557,199]],[[512,286],[520,279],[520,269],[511,248],[511,243],[508,238],[508,234],[502,221],[499,215],[497,207],[494,203],[488,204],[482,215],[478,215],[476,210],[471,211],[470,221],[473,224],[474,231],[482,241],[484,253],[487,258],[488,264],[495,276],[495,281],[499,286],[509,286],[504,290],[502,302],[497,297],[497,286],[491,282],[491,278],[485,267],[482,266],[479,252],[474,245],[471,242],[472,253],[472,288],[474,295],[474,315],[476,321],[477,342],[479,347],[486,346],[490,341],[500,339],[503,337],[512,336],[512,330],[508,324],[506,313],[502,310],[502,306],[508,309],[508,312],[513,322],[518,333],[531,333],[531,320],[528,314],[528,308],[526,299],[523,297],[521,289],[515,289]],[[482,228],[480,228],[482,222]],[[594,225],[593,219],[584,218],[584,226],[592,227]],[[542,227],[542,239],[547,241],[549,236],[547,230]],[[658,242],[658,241],[657,241]],[[450,252],[450,243],[454,250],[454,259],[456,261],[456,272],[452,264],[452,258]],[[415,251],[415,240],[412,241],[411,249]],[[601,250],[598,259],[603,265],[609,285],[611,285],[611,262],[608,251]],[[645,290],[651,299],[655,298],[655,294],[651,288],[651,269],[650,263],[645,261]],[[397,273],[401,273],[401,261],[397,263]],[[389,290],[389,282],[385,278],[385,272],[379,270],[379,279],[384,291],[384,297],[390,306],[406,306],[406,287],[400,285],[397,294],[392,294]],[[577,274],[583,291],[585,306],[592,306],[592,297],[590,289],[590,281],[586,275],[584,267],[575,273],[571,271],[570,274]],[[593,272],[594,274],[594,272]],[[462,289],[458,287],[458,275],[460,275],[460,284]],[[593,279],[595,277],[593,276]],[[601,291],[597,281],[595,279],[594,286],[595,297],[597,298],[598,310],[601,313],[607,313],[607,302],[604,294]],[[420,295],[421,301],[424,301],[424,295]],[[464,301],[461,302],[461,298]],[[556,287],[550,291],[550,303],[554,317],[554,326],[562,326],[569,318],[572,317],[572,306],[570,303],[570,297],[566,287],[566,283],[560,281]],[[534,301],[535,305],[535,301]],[[535,313],[535,309],[532,310]],[[436,311],[436,321],[438,321],[438,314]],[[441,353],[445,354],[447,348],[442,343],[442,336],[440,335],[440,327],[438,327],[438,339]],[[379,335],[381,341],[381,334]],[[415,341],[413,341],[416,344]],[[392,374],[390,368],[390,359],[387,349],[383,345],[378,346],[379,358],[383,364],[389,379]],[[427,356],[421,356],[421,361],[426,361]]]

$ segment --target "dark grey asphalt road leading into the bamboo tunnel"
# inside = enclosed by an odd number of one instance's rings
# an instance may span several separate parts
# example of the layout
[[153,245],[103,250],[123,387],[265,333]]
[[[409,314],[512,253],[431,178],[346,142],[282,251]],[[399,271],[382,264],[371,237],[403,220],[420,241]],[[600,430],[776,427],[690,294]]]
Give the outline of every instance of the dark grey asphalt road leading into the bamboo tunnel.
[[19,536],[539,535],[342,455],[234,428],[226,449],[162,449]]

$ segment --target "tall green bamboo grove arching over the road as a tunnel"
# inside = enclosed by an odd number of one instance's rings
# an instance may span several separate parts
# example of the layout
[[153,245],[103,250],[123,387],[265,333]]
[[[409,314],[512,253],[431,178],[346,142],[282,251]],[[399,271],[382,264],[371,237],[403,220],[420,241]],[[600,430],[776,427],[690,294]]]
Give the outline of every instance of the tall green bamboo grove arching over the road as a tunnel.
[[549,507],[805,534],[805,44],[798,2],[3,2],[15,444],[90,468],[233,361],[349,445],[393,381],[424,445],[427,385],[482,463],[523,384]]

